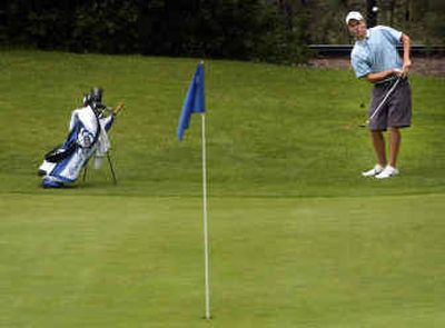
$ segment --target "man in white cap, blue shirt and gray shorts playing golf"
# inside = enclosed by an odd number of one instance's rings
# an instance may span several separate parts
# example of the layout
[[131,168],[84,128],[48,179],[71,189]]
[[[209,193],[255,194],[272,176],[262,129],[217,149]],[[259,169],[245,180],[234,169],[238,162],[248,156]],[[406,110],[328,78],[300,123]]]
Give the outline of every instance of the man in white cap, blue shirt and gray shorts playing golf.
[[[357,11],[347,14],[346,23],[356,39],[350,53],[355,74],[374,85],[368,127],[377,163],[362,175],[377,179],[395,177],[398,175],[399,129],[411,126],[412,116],[411,87],[407,79],[412,64],[409,37],[384,26],[367,29],[363,16]],[[403,59],[396,48],[400,42]],[[389,131],[389,159],[386,157],[383,135],[386,130]]]

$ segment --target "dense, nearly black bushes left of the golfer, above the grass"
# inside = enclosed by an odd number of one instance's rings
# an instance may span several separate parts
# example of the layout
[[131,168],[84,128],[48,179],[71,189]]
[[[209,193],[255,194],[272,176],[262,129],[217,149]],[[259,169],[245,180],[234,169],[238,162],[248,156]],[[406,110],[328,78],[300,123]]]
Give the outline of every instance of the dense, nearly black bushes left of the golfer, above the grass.
[[1,43],[300,62],[300,20],[265,0],[9,0]]

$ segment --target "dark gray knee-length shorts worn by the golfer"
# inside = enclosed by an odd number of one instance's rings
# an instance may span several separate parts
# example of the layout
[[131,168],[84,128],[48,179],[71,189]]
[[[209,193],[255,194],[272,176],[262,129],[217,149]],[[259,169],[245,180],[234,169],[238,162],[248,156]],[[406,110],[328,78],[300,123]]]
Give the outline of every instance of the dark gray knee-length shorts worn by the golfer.
[[[394,81],[375,85],[370,93],[369,118],[387,95]],[[386,131],[389,128],[411,126],[412,100],[408,79],[402,79],[376,116],[369,121],[369,130]]]

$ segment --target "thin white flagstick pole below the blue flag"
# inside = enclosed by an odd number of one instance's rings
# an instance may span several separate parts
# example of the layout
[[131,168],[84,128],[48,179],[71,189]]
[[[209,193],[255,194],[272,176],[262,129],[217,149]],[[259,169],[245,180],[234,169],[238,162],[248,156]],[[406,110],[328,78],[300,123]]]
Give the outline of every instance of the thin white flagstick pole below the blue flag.
[[207,229],[207,165],[206,165],[206,116],[201,113],[202,121],[202,201],[204,201],[204,260],[206,280],[206,319],[210,320],[210,292],[209,292],[209,242]]

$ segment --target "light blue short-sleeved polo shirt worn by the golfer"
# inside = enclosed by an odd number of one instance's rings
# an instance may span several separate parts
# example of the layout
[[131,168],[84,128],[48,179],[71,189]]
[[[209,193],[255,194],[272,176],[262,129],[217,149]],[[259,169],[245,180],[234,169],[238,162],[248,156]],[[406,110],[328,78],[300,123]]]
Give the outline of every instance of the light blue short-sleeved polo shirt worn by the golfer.
[[[366,32],[366,38],[357,40],[350,52],[350,63],[357,78],[368,73],[399,68],[403,62],[397,52],[402,32],[389,27],[377,26]],[[390,78],[389,78],[390,79]]]

